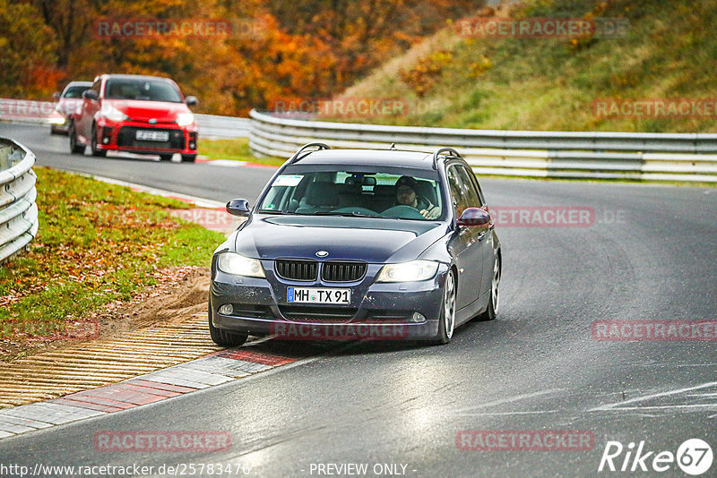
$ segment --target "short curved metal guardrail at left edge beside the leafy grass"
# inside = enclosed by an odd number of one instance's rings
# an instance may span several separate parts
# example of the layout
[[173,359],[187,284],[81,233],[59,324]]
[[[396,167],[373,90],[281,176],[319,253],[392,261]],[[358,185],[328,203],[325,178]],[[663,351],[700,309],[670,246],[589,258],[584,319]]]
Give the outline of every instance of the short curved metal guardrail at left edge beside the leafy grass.
[[0,138],[0,261],[21,251],[38,234],[34,164],[30,149]]

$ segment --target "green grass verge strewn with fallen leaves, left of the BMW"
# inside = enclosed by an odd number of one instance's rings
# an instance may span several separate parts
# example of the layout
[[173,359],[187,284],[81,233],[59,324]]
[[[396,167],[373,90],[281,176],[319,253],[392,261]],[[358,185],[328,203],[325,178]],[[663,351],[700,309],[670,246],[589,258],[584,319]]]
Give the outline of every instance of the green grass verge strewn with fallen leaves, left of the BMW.
[[[0,268],[0,332],[62,330],[155,283],[158,269],[209,266],[224,236],[169,215],[190,205],[36,167],[39,233]],[[14,334],[17,335],[17,334]],[[52,335],[52,334],[49,334]]]

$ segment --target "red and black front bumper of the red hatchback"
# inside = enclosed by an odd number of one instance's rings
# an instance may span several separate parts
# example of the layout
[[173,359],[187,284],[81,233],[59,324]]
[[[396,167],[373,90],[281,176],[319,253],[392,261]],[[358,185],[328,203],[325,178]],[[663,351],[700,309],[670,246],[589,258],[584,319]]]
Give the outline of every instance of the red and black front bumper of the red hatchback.
[[[138,141],[138,130],[167,132],[168,141]],[[112,122],[105,119],[97,124],[97,148],[136,154],[196,154],[198,127],[196,124],[179,126],[175,123],[149,124],[126,120]]]

